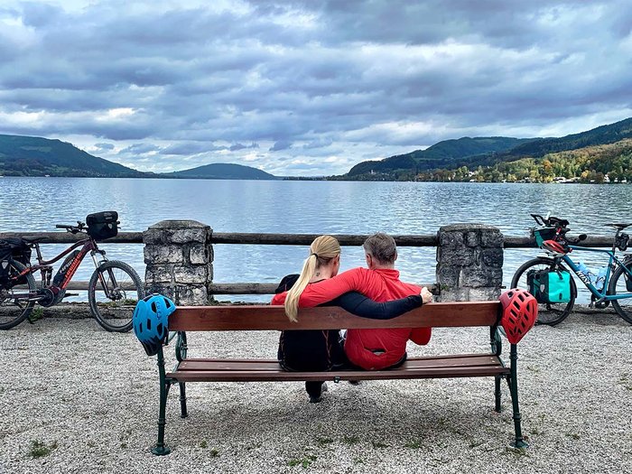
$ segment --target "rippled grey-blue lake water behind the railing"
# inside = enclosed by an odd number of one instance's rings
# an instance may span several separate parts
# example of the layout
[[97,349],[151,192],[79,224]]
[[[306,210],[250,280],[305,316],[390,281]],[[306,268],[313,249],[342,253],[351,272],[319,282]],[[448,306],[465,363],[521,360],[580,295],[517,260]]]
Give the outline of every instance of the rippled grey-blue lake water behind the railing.
[[[530,213],[567,218],[573,232],[608,236],[604,225],[632,221],[630,185],[434,183],[358,181],[211,181],[98,178],[0,179],[0,231],[54,231],[87,214],[117,210],[122,231],[142,231],[163,219],[194,219],[217,232],[314,234],[434,234],[441,226],[471,222],[506,236],[527,236]],[[138,245],[105,245],[108,256],[144,275]],[[44,256],[64,246],[43,246]],[[217,283],[275,283],[300,270],[305,246],[215,246]],[[401,248],[404,280],[435,281],[435,249]],[[506,284],[536,249],[508,250]],[[587,264],[599,265],[590,259]],[[343,247],[342,269],[364,265],[359,247]],[[93,271],[88,260],[78,279]],[[265,296],[239,297],[263,301]]]

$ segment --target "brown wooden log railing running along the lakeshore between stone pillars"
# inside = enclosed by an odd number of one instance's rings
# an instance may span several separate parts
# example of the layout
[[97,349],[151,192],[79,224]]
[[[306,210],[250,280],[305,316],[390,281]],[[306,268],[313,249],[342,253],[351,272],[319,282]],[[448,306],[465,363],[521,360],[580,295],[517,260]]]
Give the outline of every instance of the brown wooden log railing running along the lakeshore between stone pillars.
[[[320,234],[262,234],[262,233],[222,233],[213,232],[211,244],[221,245],[274,245],[274,246],[309,246]],[[6,237],[44,237],[42,244],[71,244],[85,234],[68,232],[2,232],[0,238]],[[341,246],[361,246],[368,235],[333,235]],[[437,246],[437,236],[394,235],[397,246]],[[143,232],[119,232],[116,237],[107,239],[107,244],[143,244]],[[609,247],[612,237],[588,237],[581,246]],[[535,248],[533,237],[505,237],[505,248]],[[276,283],[212,283],[209,286],[212,294],[272,294]],[[428,283],[427,286],[433,286]],[[71,282],[70,290],[88,290],[88,282]]]

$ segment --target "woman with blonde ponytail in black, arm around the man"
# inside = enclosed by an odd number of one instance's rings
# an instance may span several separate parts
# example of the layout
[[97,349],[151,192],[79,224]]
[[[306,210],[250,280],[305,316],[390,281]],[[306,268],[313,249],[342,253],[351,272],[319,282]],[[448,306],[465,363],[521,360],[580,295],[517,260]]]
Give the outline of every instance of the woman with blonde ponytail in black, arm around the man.
[[[340,269],[340,245],[335,237],[316,237],[310,246],[301,274],[283,278],[271,304],[283,304],[290,321],[299,319],[299,299],[311,283],[336,276]],[[360,317],[391,319],[422,305],[420,295],[408,296],[391,302],[374,302],[357,292],[345,293],[327,303],[341,306]],[[278,360],[284,370],[327,371],[348,364],[339,330],[288,330],[279,339]],[[311,403],[321,401],[324,382],[305,382]]]

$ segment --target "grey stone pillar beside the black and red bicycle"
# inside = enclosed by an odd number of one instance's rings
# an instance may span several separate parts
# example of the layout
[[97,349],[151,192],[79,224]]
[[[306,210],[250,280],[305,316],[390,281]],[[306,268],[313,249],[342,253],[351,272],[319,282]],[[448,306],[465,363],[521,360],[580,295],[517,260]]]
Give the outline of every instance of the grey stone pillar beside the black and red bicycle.
[[208,304],[212,235],[212,228],[195,220],[163,220],[145,230],[147,293],[164,294],[180,305]]

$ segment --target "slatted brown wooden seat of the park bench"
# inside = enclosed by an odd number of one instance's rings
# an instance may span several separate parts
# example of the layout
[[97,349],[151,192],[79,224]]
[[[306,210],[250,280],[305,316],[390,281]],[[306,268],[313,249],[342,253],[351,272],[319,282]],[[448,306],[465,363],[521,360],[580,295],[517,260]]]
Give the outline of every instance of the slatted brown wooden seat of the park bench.
[[378,380],[392,378],[440,378],[495,376],[507,374],[499,358],[490,354],[465,354],[438,358],[410,358],[402,367],[389,370],[338,370],[330,372],[286,372],[276,360],[188,359],[168,377],[179,382],[195,381],[296,381]]

